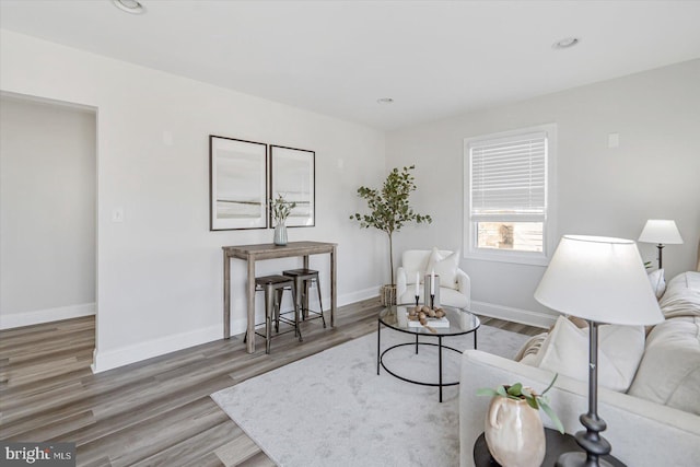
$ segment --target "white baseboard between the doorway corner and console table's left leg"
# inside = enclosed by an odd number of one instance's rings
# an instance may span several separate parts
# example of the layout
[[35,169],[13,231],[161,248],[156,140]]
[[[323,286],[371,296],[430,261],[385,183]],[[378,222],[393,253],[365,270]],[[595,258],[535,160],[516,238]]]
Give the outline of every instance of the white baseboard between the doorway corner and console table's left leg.
[[222,329],[222,325],[217,325],[202,329],[195,329],[188,332],[151,339],[106,352],[100,352],[95,349],[93,353],[93,364],[91,367],[93,373],[101,373],[118,366],[128,365],[129,363],[140,362],[141,360],[211,342],[223,337]]

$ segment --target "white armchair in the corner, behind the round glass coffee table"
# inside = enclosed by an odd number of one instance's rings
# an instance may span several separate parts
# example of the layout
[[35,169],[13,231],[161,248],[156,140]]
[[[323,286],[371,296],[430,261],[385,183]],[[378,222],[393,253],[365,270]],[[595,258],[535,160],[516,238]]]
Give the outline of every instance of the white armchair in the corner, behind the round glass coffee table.
[[[440,304],[469,310],[471,280],[459,269],[459,252],[407,249],[401,255],[401,266],[396,270],[396,303],[416,302],[416,272],[420,280],[432,269],[440,276]],[[418,288],[423,302],[423,285]]]

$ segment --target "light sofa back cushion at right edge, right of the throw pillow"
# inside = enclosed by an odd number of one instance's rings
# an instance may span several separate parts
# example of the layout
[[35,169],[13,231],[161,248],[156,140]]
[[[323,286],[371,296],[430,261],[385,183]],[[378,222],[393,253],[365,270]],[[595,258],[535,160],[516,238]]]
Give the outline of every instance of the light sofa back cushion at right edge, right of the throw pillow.
[[654,327],[628,394],[700,415],[700,317]]

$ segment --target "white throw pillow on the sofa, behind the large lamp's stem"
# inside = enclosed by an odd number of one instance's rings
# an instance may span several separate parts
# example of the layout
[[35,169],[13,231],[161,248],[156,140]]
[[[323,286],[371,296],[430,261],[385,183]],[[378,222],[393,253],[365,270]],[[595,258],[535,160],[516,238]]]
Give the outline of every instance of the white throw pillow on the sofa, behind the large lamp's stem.
[[[598,384],[625,393],[644,353],[642,326],[598,327]],[[535,366],[588,381],[588,328],[579,328],[563,316],[537,353]]]

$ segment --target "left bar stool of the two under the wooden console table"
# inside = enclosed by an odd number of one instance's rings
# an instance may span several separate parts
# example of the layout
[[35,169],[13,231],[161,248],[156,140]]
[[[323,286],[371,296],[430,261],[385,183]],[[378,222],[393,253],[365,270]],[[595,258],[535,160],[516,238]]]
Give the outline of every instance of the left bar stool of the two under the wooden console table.
[[[284,318],[280,313],[282,304],[282,294],[284,290],[292,291],[292,301],[294,302],[294,320]],[[294,336],[299,336],[302,342],[302,331],[299,328],[299,302],[296,300],[296,289],[294,281],[284,276],[262,276],[255,278],[255,291],[265,291],[265,336],[256,332],[260,337],[265,337],[265,353],[270,353],[270,339],[272,338],[272,319],[275,319],[275,331],[280,331],[280,320],[294,326]],[[282,332],[284,334],[284,332]],[[247,338],[247,335],[246,335]]]

